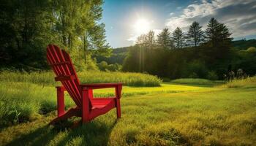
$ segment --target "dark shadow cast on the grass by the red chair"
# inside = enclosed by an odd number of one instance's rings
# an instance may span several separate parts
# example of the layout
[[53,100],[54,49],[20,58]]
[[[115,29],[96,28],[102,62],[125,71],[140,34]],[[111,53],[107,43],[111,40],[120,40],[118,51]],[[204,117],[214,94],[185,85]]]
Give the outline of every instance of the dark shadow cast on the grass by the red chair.
[[[106,124],[100,121],[67,128],[70,122],[57,126],[42,126],[29,134],[22,134],[7,145],[108,145],[108,140],[117,120]],[[61,137],[58,137],[61,134]],[[51,142],[52,141],[52,142]]]

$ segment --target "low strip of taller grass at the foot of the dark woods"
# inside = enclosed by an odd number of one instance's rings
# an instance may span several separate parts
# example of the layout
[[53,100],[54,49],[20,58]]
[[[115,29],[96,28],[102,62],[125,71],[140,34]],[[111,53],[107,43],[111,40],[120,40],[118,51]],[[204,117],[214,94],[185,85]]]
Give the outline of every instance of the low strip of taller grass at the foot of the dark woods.
[[213,81],[213,80],[197,79],[197,78],[182,78],[182,79],[171,80],[170,82],[173,82],[176,84],[189,84],[189,85],[217,85],[217,84],[224,83],[223,81]]

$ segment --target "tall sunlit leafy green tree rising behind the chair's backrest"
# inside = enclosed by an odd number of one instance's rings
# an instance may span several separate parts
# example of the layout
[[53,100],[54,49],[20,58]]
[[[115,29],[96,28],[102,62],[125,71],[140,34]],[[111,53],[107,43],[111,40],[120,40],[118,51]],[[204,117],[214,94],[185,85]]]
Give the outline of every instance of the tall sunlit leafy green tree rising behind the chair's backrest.
[[[64,47],[83,48],[84,59],[86,55],[97,53],[110,55],[110,46],[105,40],[105,25],[99,23],[102,18],[102,0],[93,1],[54,1],[56,28],[61,33]],[[83,46],[78,42],[83,41]],[[93,50],[93,51],[92,51]]]

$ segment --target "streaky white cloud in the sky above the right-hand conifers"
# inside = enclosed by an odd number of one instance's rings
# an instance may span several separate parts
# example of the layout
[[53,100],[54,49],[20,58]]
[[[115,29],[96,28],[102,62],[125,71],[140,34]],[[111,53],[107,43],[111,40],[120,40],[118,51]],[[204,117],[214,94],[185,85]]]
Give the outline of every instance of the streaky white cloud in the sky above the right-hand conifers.
[[225,23],[233,33],[232,37],[256,34],[256,1],[202,0],[184,8],[181,15],[167,19],[166,26],[170,31],[176,27],[187,31],[189,25],[197,21],[205,28],[211,18]]

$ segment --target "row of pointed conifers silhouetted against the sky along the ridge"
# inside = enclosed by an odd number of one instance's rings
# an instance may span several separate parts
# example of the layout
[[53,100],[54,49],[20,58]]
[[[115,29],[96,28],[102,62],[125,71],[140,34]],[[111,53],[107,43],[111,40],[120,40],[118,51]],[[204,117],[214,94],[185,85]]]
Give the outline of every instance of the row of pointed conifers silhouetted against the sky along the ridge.
[[184,47],[197,47],[202,43],[208,43],[210,47],[230,46],[232,38],[230,32],[223,23],[219,23],[215,18],[209,20],[205,31],[198,22],[193,22],[189,26],[189,31],[185,33],[177,27],[172,33],[168,28],[164,28],[157,38],[154,31],[142,34],[136,42],[141,47],[161,47],[163,49],[176,49]]

